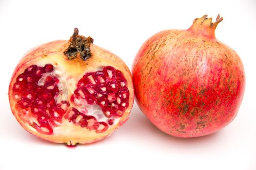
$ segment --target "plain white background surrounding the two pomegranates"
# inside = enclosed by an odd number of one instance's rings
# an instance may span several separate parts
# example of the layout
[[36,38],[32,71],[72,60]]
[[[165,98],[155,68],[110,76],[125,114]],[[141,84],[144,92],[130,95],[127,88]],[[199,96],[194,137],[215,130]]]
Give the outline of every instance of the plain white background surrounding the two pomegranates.
[[[217,38],[240,55],[246,72],[236,119],[216,134],[168,136],[134,104],[112,136],[69,149],[30,135],[12,115],[8,85],[20,57],[32,47],[69,39],[75,27],[131,68],[141,44],[165,29],[187,29],[217,14]],[[0,0],[0,170],[256,170],[256,0]]]

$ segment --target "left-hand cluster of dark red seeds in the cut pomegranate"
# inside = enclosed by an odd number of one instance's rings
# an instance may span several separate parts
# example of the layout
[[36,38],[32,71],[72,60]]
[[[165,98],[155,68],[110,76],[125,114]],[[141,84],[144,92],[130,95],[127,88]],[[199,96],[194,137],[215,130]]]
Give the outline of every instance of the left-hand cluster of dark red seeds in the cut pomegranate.
[[17,82],[13,86],[17,93],[15,97],[19,100],[17,104],[23,112],[28,114],[27,109],[30,107],[31,114],[37,118],[38,123],[33,122],[32,127],[46,135],[53,134],[52,126],[59,126],[70,105],[67,101],[56,103],[54,100],[54,96],[59,92],[56,86],[59,83],[57,77],[42,78],[45,71],[52,72],[53,69],[51,64],[46,64],[44,68],[32,65],[17,77]]

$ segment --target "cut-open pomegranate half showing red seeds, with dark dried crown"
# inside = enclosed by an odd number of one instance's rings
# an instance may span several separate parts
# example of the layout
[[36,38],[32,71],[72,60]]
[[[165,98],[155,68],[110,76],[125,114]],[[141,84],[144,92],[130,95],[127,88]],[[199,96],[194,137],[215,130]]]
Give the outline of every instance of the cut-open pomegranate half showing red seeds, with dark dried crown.
[[70,40],[28,51],[9,85],[12,113],[42,139],[76,145],[109,136],[134,102],[129,68],[74,29]]

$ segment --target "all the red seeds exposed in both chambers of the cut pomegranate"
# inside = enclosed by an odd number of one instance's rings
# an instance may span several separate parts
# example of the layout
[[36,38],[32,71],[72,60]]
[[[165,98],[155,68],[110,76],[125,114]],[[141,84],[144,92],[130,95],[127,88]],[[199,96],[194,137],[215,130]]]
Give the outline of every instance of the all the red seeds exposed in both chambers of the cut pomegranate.
[[[37,118],[32,127],[39,133],[53,134],[52,127],[58,127],[64,115],[69,122],[95,130],[96,133],[105,132],[108,125],[113,125],[114,119],[107,120],[108,124],[98,122],[94,116],[87,115],[89,110],[86,108],[81,108],[79,112],[74,107],[69,109],[70,104],[67,101],[56,102],[54,98],[60,92],[59,79],[54,74],[44,76],[44,73],[53,70],[51,64],[46,64],[43,68],[33,65],[17,77],[17,82],[13,86],[17,92],[17,104],[24,111],[27,109],[25,113],[29,113],[28,109],[31,108],[31,114]],[[85,101],[87,104],[98,104],[106,117],[121,117],[128,106],[126,98],[129,91],[126,82],[119,70],[103,67],[102,71],[86,73],[79,80],[70,100],[75,106],[81,106]]]

